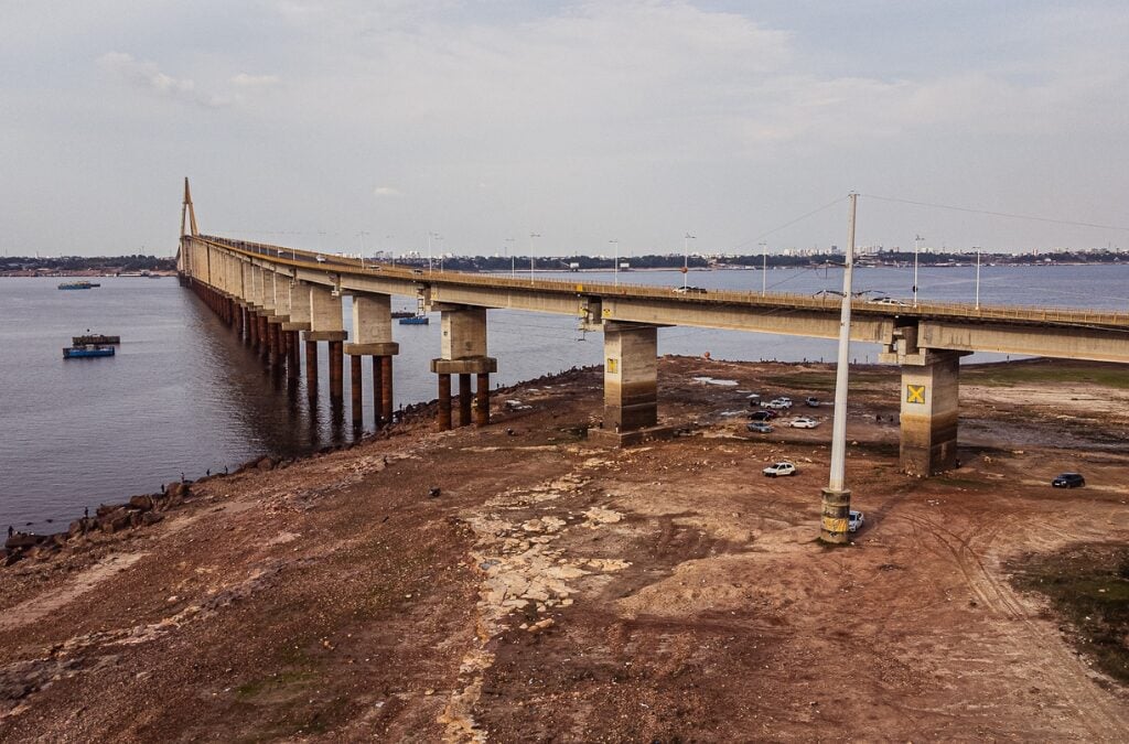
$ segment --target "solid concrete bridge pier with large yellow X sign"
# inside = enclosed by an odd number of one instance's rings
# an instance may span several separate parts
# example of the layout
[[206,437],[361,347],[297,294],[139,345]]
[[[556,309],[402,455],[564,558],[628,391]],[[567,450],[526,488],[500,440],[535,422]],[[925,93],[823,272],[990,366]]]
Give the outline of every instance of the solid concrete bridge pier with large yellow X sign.
[[961,357],[966,351],[921,349],[917,326],[894,331],[879,356],[902,369],[901,467],[928,478],[956,466]]

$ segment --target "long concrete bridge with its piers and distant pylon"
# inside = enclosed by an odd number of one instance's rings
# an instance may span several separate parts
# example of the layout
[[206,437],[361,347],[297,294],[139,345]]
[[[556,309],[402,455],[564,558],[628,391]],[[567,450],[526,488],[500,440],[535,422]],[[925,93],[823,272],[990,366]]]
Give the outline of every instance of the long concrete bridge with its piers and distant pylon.
[[[377,422],[392,419],[393,295],[419,298],[441,317],[438,427],[490,421],[487,313],[518,309],[579,318],[604,334],[603,428],[589,435],[630,444],[658,434],[657,331],[697,326],[835,339],[838,297],[735,291],[677,292],[576,281],[431,271],[202,235],[185,182],[177,270],[270,364],[297,377],[305,341],[307,388],[316,394],[318,343],[327,344],[330,397],[342,402],[350,360],[352,418],[362,415],[361,378],[371,358]],[[341,298],[352,297],[351,329]],[[1129,313],[852,300],[851,339],[882,347],[901,367],[901,464],[928,476],[954,466],[959,360],[974,351],[1129,362]],[[348,343],[345,343],[348,341]],[[458,378],[457,420],[452,377]],[[471,383],[474,378],[472,393]]]

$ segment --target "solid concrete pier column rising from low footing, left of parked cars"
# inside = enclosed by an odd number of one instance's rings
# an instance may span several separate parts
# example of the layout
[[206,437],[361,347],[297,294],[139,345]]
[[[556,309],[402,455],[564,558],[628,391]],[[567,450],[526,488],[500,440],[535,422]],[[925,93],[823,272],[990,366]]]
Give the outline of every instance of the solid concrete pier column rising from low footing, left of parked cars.
[[658,329],[604,324],[604,429],[622,434],[658,423]]

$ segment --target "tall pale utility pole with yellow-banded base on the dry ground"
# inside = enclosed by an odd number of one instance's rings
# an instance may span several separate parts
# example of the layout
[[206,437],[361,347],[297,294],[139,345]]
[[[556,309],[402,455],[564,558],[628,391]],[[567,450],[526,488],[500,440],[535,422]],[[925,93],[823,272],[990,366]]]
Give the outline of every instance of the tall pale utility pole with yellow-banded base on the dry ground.
[[823,515],[820,520],[820,540],[828,543],[848,541],[847,523],[850,515],[850,491],[847,481],[847,384],[850,364],[850,303],[851,280],[855,269],[855,211],[858,194],[850,194],[850,216],[847,221],[847,262],[843,266],[843,298],[839,316],[839,359],[835,364],[835,408],[831,430],[831,475],[823,489]]

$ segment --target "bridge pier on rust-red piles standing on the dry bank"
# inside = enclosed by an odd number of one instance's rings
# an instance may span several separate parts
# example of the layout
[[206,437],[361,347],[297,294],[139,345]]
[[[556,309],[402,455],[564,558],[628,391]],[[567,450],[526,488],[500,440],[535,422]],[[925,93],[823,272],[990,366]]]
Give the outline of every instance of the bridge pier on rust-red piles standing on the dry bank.
[[[441,357],[431,360],[431,371],[439,376],[440,431],[452,428],[450,376],[458,375],[458,426],[469,426],[476,409],[475,423],[490,422],[490,373],[498,371],[498,360],[487,356],[487,309],[465,305],[437,305],[443,332]],[[472,405],[471,376],[478,376]]]

